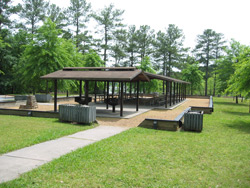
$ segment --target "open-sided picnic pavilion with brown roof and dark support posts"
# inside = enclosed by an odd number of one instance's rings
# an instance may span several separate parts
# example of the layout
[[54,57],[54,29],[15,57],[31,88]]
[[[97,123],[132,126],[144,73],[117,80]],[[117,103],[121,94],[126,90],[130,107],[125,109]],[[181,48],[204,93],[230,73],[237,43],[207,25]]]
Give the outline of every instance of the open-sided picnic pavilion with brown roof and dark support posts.
[[[139,90],[140,82],[150,82],[152,79],[158,79],[163,81],[163,93],[164,93],[164,106],[175,105],[186,99],[186,89],[189,82],[174,79],[171,77],[152,74],[144,72],[135,67],[66,67],[62,70],[47,74],[41,77],[42,79],[52,80],[54,82],[54,111],[57,111],[57,81],[62,79],[77,80],[80,82],[79,97],[75,100],[80,104],[88,105],[92,101],[89,97],[89,82],[95,83],[94,89],[94,101],[97,98],[97,82],[104,82],[104,101],[106,103],[106,109],[109,105],[113,106],[113,112],[115,111],[115,105],[120,105],[120,116],[123,116],[124,105],[124,92],[126,91],[126,83],[134,85],[136,88],[135,93],[135,106],[136,111],[139,110]],[[85,82],[85,93],[82,96],[82,81]],[[119,83],[119,96],[114,97],[114,83]],[[112,94],[110,94],[110,84],[112,85]],[[124,89],[125,85],[125,89]],[[131,90],[130,90],[131,97]]]

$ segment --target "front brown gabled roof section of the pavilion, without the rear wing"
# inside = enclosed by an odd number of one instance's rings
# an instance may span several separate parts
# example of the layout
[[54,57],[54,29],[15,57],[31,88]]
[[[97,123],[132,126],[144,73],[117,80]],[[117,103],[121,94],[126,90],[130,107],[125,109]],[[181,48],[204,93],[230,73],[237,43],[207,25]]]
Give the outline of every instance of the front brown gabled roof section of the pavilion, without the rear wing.
[[[77,70],[78,69],[78,70]],[[82,70],[81,70],[82,69]],[[91,68],[66,68],[45,76],[42,79],[74,79],[74,80],[90,80],[90,81],[143,81],[149,82],[150,79],[138,69],[114,69],[110,71],[95,70]]]

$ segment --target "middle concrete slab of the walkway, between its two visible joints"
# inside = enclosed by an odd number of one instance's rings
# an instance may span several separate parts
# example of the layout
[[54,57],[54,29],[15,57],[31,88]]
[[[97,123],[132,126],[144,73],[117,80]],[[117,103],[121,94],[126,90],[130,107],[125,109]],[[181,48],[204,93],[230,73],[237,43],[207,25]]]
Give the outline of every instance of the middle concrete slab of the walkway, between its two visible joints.
[[93,142],[94,141],[91,140],[80,140],[63,137],[13,151],[5,154],[5,156],[51,161],[53,159],[59,158],[61,155],[65,155]]

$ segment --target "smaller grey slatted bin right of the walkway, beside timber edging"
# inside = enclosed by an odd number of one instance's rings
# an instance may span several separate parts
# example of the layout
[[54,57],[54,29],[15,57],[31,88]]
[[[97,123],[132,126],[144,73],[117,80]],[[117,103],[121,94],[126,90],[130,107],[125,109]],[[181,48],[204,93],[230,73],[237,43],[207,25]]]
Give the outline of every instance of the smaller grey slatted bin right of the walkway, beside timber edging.
[[184,114],[185,131],[201,132],[203,128],[203,111],[188,111]]

